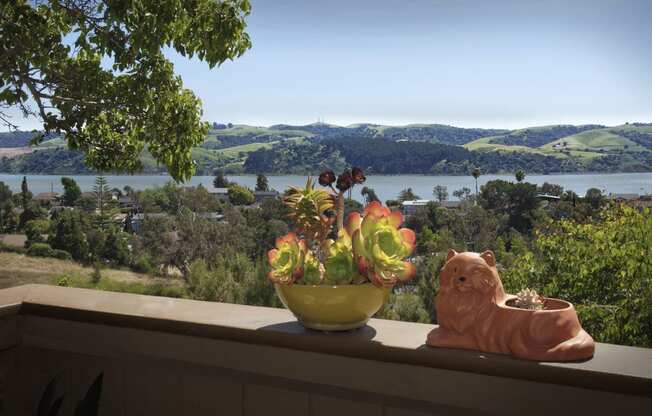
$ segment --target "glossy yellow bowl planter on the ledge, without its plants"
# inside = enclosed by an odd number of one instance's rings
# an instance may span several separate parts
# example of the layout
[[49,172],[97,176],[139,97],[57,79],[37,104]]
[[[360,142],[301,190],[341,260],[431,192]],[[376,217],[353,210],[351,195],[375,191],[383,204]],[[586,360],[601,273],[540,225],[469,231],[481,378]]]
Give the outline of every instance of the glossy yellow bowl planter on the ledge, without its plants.
[[361,285],[283,285],[276,293],[306,328],[346,331],[360,328],[383,306],[389,289],[371,283]]

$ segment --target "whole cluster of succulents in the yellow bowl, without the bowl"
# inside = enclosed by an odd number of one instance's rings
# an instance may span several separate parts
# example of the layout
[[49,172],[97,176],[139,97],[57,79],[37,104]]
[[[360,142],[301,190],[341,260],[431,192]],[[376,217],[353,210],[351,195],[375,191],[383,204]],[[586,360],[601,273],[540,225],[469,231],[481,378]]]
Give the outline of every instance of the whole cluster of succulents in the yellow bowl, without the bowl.
[[[331,170],[319,175],[315,189],[312,178],[305,188],[291,187],[284,198],[290,208],[297,233],[276,240],[268,253],[272,270],[268,277],[278,284],[347,285],[372,282],[391,287],[412,278],[415,267],[406,258],[412,254],[415,235],[399,228],[403,216],[380,202],[372,202],[360,215],[349,215],[344,227],[344,193],[366,180],[362,169],[354,167],[335,176]],[[335,202],[337,201],[337,204]],[[337,205],[337,206],[335,206]],[[337,238],[333,233],[337,211]]]

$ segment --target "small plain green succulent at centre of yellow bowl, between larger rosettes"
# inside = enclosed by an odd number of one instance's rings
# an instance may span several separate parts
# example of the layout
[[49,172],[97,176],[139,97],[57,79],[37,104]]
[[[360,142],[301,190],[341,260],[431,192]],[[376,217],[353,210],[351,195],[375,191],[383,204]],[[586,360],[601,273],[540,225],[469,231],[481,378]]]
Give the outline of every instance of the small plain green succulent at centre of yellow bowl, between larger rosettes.
[[324,283],[329,285],[350,284],[359,280],[358,270],[353,257],[353,245],[349,233],[342,229],[336,241],[326,240]]

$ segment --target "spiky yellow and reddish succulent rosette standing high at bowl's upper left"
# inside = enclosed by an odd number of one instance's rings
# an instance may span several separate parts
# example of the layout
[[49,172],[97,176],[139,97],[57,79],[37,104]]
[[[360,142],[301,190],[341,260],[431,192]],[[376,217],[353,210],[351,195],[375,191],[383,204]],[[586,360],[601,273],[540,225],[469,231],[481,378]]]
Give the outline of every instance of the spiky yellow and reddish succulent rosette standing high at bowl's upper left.
[[305,188],[290,187],[284,201],[290,208],[290,217],[305,238],[323,241],[328,236],[335,221],[332,215],[328,215],[334,204],[331,193],[315,189],[312,178],[308,178]]

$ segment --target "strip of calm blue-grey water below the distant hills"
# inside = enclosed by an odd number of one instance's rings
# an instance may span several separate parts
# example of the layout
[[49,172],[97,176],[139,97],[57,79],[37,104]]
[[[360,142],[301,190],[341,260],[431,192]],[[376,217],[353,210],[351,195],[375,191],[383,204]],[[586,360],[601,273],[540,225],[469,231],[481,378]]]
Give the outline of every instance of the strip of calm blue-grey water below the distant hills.
[[[82,191],[91,191],[95,181],[94,176],[73,176],[77,181]],[[20,184],[23,175],[5,175],[0,174],[0,182],[4,182],[14,191],[20,191]],[[122,189],[125,185],[129,185],[134,189],[144,189],[153,186],[163,185],[169,181],[168,176],[148,176],[148,175],[133,175],[133,176],[107,176],[109,185]],[[228,176],[230,181],[239,183],[253,188],[256,184],[256,176],[254,175],[235,175]],[[505,179],[509,181],[514,180],[513,175],[483,175],[480,177],[478,183],[482,185],[492,179]],[[297,175],[283,175],[283,176],[269,176],[269,184],[272,188],[283,190],[289,185],[304,185],[306,176]],[[570,189],[583,195],[589,188],[601,189],[606,194],[609,193],[636,193],[636,194],[650,194],[652,193],[652,173],[617,173],[617,174],[586,174],[586,175],[539,175],[527,176],[527,182],[543,184],[550,182],[562,185],[565,189]],[[49,192],[53,189],[55,192],[62,192],[61,176],[60,175],[27,175],[27,182],[29,189],[33,193]],[[211,176],[196,176],[188,183],[189,185],[203,184],[205,186],[212,186],[213,178]],[[444,185],[448,187],[448,193],[452,199],[453,191],[460,189],[464,186],[474,189],[474,180],[471,176],[421,176],[421,175],[398,175],[398,176],[385,176],[374,175],[370,176],[365,183],[366,186],[374,188],[378,197],[385,201],[387,199],[394,199],[398,193],[407,187],[422,197],[423,199],[432,199],[432,188],[435,185]],[[353,197],[362,200],[360,196],[361,186],[354,188]]]

